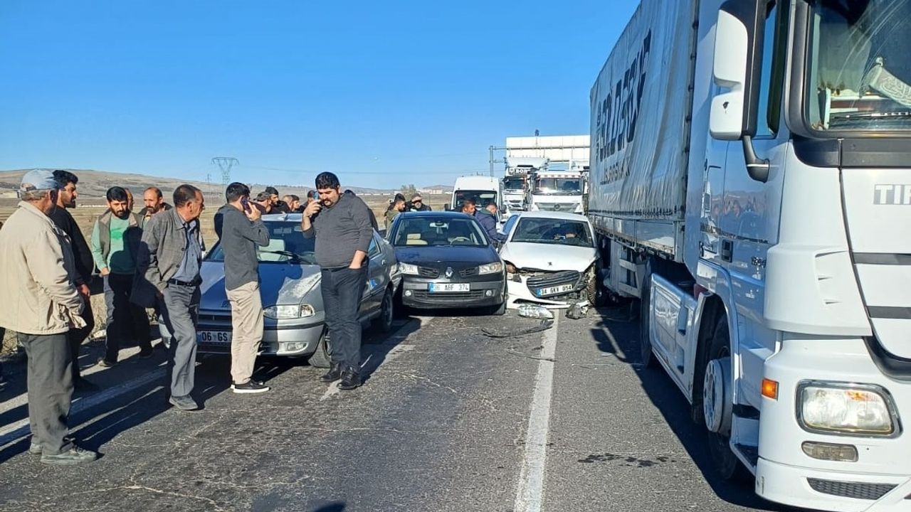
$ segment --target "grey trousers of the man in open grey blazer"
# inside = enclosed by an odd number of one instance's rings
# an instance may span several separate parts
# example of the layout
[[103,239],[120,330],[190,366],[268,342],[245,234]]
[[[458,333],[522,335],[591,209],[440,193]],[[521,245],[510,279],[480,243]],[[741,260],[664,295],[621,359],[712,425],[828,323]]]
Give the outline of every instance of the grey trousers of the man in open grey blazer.
[[164,292],[161,315],[171,333],[168,374],[171,396],[193,391],[196,374],[196,325],[200,318],[200,287],[169,284]]

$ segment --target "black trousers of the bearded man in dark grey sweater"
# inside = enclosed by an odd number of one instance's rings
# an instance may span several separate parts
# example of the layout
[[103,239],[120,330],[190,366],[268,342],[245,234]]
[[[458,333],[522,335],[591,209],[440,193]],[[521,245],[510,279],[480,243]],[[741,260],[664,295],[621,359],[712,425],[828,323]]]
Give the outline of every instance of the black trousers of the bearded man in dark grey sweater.
[[367,267],[322,271],[322,308],[326,312],[329,329],[330,355],[333,363],[361,369],[361,309],[363,286],[367,281]]

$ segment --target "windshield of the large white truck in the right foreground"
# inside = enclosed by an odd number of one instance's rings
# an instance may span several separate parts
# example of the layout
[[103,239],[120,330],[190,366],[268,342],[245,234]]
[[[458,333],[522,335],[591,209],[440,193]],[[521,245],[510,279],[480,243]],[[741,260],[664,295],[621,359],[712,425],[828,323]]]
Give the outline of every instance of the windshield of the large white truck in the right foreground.
[[810,23],[809,126],[911,129],[911,0],[817,0]]

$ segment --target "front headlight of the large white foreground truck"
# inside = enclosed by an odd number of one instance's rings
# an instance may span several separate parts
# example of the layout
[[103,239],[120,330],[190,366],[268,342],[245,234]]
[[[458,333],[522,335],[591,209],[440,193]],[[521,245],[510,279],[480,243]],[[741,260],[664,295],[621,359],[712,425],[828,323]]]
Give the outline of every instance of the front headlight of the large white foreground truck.
[[813,432],[892,435],[896,422],[891,400],[875,385],[805,383],[799,387],[800,423]]

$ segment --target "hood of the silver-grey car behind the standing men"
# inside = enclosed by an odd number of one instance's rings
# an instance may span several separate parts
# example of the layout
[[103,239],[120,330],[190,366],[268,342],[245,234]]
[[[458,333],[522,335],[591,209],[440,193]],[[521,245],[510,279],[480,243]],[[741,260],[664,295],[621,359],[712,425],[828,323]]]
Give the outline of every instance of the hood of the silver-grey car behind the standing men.
[[[224,264],[203,261],[200,269],[202,310],[230,310],[225,292]],[[319,294],[319,265],[293,265],[289,263],[260,264],[260,296],[263,307],[275,304],[300,304],[309,293]]]

